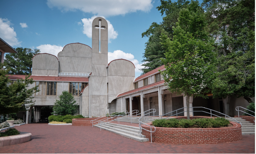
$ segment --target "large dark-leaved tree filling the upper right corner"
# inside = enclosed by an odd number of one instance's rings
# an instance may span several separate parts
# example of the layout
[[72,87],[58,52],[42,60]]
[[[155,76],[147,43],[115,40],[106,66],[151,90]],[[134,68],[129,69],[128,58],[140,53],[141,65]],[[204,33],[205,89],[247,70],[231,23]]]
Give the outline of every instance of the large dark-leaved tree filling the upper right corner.
[[204,0],[209,32],[220,51],[214,97],[255,96],[255,2]]

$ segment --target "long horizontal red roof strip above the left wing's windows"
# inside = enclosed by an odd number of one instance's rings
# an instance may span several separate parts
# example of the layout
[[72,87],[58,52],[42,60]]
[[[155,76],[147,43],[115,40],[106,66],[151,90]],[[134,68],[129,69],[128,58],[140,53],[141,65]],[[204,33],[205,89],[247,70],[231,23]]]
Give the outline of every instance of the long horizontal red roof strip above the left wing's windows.
[[[11,80],[25,79],[26,75],[9,75]],[[74,76],[41,76],[31,75],[29,79],[33,78],[34,81],[65,81],[65,82],[88,82],[87,77],[74,77]]]

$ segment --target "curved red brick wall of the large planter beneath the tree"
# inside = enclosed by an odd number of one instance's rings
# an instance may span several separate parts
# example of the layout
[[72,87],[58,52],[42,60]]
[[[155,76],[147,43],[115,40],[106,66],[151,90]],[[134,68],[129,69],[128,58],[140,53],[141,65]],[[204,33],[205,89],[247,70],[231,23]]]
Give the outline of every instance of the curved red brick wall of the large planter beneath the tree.
[[[181,119],[180,117],[178,119]],[[187,117],[186,117],[187,118]],[[193,117],[190,117],[192,119]],[[194,117],[199,118],[199,117]],[[203,118],[203,117],[200,117]],[[242,139],[241,125],[233,123],[233,127],[225,128],[164,128],[156,127],[152,133],[152,142],[169,144],[216,144],[223,142],[233,142]],[[151,123],[147,123],[151,125]],[[142,128],[150,130],[147,125]],[[154,128],[152,128],[154,131]],[[150,141],[150,132],[142,129],[142,134]]]

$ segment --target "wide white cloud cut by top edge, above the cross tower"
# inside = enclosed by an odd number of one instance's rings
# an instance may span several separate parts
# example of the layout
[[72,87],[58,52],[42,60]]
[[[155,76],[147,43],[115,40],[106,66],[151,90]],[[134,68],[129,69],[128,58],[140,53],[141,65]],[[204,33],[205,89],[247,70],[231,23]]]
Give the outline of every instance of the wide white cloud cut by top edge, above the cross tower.
[[137,10],[148,12],[152,3],[152,0],[47,0],[48,7],[57,7],[62,12],[81,10],[104,16],[124,15]]

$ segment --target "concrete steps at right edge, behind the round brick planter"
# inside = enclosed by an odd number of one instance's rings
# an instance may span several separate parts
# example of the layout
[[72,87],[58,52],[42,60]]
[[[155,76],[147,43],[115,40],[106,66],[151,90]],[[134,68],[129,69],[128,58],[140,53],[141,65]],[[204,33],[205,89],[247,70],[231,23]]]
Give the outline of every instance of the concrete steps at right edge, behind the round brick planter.
[[[236,122],[231,118],[226,118],[230,122]],[[234,118],[242,124],[242,135],[255,135],[255,125],[242,118]]]

